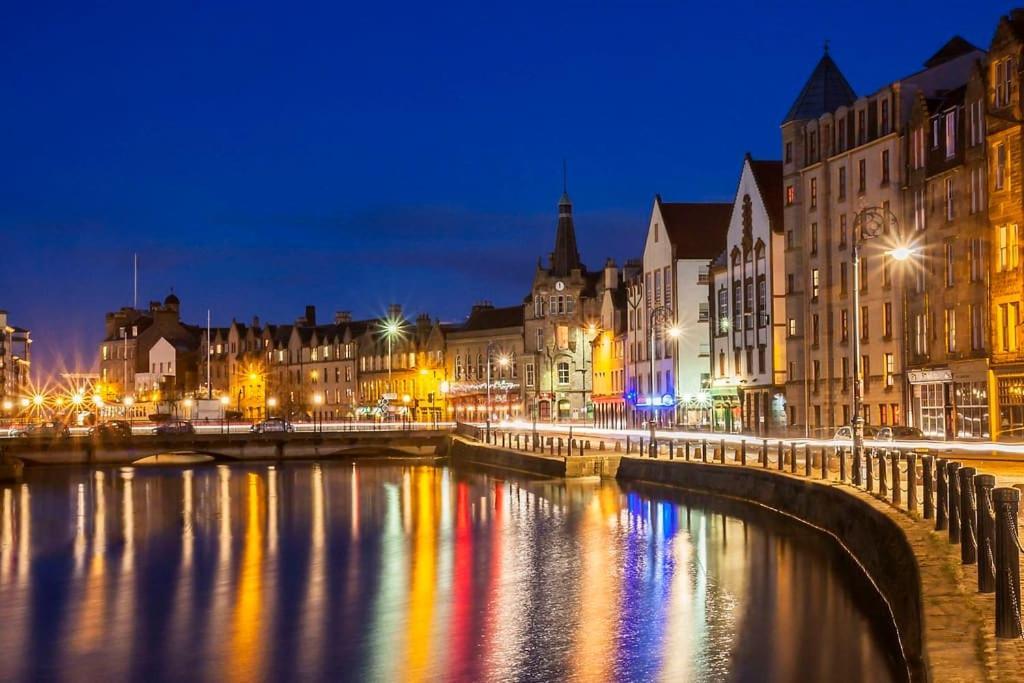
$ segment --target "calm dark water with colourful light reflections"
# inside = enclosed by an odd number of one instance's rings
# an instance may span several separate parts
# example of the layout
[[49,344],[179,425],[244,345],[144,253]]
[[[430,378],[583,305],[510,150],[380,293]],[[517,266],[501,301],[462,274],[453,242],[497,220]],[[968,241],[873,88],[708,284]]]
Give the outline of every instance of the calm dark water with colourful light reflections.
[[30,469],[0,679],[892,679],[830,543],[736,503],[351,463]]

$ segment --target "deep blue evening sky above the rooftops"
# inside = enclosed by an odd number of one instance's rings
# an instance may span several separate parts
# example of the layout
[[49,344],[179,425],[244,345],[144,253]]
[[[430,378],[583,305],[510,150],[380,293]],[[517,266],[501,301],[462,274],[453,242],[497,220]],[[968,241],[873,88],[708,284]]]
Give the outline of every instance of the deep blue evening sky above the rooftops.
[[621,264],[655,193],[729,201],[778,156],[825,39],[868,92],[1009,8],[492,4],[8,5],[0,308],[39,370],[93,362],[133,252],[197,323],[517,302],[563,158],[585,260]]

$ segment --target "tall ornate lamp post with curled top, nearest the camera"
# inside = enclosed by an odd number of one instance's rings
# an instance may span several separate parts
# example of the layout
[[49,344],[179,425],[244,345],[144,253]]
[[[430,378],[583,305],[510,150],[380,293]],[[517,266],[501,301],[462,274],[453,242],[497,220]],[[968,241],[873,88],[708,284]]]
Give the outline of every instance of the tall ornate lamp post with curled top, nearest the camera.
[[[864,418],[861,415],[863,402],[863,380],[860,369],[860,247],[861,243],[873,240],[889,231],[894,232],[899,226],[899,220],[886,207],[864,207],[853,219],[853,246],[850,251],[851,267],[853,269],[853,396],[851,407],[852,420],[850,424],[853,433],[853,483],[860,484],[860,466],[864,454]],[[886,252],[897,261],[905,261],[913,253],[907,246],[896,247]]]

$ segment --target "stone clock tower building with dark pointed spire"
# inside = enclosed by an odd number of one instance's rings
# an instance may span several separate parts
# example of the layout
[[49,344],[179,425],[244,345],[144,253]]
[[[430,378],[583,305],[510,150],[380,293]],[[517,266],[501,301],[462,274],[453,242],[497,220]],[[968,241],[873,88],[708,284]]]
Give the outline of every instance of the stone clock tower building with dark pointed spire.
[[572,201],[558,202],[555,248],[540,261],[523,312],[523,390],[526,415],[542,421],[593,419],[591,324],[600,316],[603,273],[580,259]]

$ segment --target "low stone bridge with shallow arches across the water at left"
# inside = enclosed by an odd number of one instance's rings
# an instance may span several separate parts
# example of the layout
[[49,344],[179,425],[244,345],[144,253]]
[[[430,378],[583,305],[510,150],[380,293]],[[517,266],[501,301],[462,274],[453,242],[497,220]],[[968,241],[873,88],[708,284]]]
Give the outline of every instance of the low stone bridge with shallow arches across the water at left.
[[296,432],[289,434],[135,435],[113,441],[85,437],[11,439],[0,459],[27,465],[173,464],[204,461],[302,460],[445,455],[446,430]]

